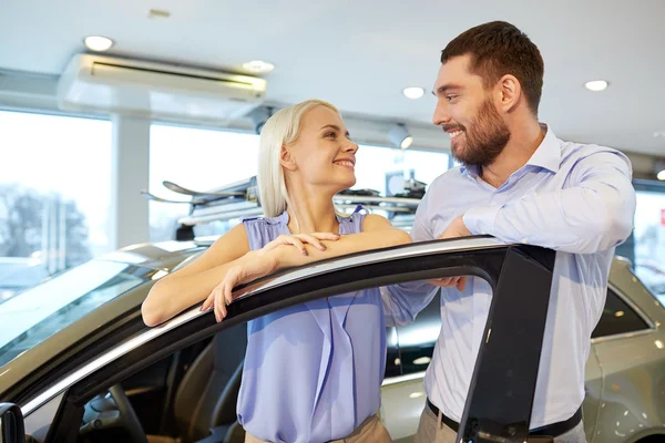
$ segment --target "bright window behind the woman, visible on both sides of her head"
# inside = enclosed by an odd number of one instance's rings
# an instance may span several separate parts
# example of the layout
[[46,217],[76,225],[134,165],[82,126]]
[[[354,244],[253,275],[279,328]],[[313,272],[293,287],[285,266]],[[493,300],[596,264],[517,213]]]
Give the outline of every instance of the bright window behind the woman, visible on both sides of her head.
[[[158,197],[187,200],[172,193],[163,181],[191,189],[209,189],[256,175],[258,143],[256,134],[232,133],[183,126],[153,124],[150,143],[150,192]],[[415,178],[429,185],[448,168],[446,153],[398,151],[360,146],[357,154],[355,188],[370,188],[382,195],[401,192],[400,178]],[[390,183],[395,184],[387,187]],[[188,205],[150,203],[151,241],[173,239],[177,219],[187,215]],[[197,226],[197,236],[222,234],[231,224]]]

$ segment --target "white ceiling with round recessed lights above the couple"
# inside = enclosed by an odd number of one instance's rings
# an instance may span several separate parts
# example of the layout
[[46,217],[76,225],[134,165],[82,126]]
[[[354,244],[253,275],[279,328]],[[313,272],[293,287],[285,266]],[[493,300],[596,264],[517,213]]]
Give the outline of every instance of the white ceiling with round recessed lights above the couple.
[[[168,19],[149,19],[151,8]],[[0,2],[0,69],[59,74],[89,34],[111,53],[219,69],[276,65],[268,100],[329,100],[354,114],[430,122],[443,47],[507,20],[545,60],[541,120],[562,138],[665,155],[663,0],[21,0]],[[605,79],[592,93],[584,82]],[[419,101],[403,97],[420,85]]]

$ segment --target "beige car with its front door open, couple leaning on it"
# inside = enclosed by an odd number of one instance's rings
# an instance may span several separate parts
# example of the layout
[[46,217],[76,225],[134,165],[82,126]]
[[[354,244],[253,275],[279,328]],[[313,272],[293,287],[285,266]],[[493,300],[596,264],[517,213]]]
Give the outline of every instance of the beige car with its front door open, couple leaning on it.
[[[152,285],[209,244],[125,248],[0,305],[2,442],[21,442],[23,426],[28,440],[40,443],[243,442],[235,408],[247,320],[351,290],[460,272],[490,281],[494,296],[492,339],[481,344],[459,436],[526,440],[553,251],[487,236],[371,250],[236,288],[221,323],[194,306],[146,327],[140,307]],[[410,441],[424,405],[423,370],[440,328],[437,303],[436,298],[411,324],[387,329],[380,415],[398,442]],[[664,320],[662,306],[630,266],[615,259],[586,368],[590,442],[664,434]],[[515,377],[508,380],[511,371]],[[504,395],[509,383],[519,394]],[[497,399],[500,411],[487,408]]]

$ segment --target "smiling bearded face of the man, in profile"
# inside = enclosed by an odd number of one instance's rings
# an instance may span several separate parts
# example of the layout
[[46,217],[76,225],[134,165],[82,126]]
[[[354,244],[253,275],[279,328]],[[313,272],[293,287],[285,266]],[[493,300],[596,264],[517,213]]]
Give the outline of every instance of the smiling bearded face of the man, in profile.
[[470,55],[454,56],[439,69],[432,122],[450,134],[452,155],[466,165],[490,165],[510,140],[510,131],[482,78],[469,71]]

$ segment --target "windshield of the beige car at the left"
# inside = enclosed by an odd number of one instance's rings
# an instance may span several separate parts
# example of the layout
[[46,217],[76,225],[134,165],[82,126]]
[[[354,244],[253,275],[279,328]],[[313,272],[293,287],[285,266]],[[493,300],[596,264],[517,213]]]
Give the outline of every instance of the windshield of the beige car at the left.
[[135,265],[92,260],[0,303],[0,367],[149,280],[151,272]]

